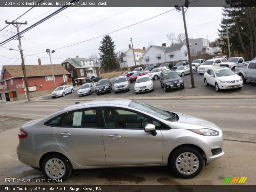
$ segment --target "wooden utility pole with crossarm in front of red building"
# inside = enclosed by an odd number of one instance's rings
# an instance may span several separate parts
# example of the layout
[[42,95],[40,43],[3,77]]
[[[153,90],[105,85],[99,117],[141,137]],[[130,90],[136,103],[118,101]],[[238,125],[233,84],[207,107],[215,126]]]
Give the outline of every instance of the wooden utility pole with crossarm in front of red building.
[[[5,21],[6,24],[12,24],[14,27],[17,28],[17,34],[20,33],[19,31],[19,25],[27,25],[27,21],[25,23],[20,23],[20,22],[7,22],[7,20]],[[20,41],[20,35],[18,35],[18,40],[19,40],[19,50],[20,50],[20,56],[21,56],[21,67],[22,67],[22,71],[23,71],[23,76],[25,79],[25,84],[26,84],[26,92],[27,92],[27,97],[28,97],[28,101],[30,101],[30,95],[29,95],[29,89],[28,89],[28,79],[27,79],[27,74],[26,74],[26,68],[25,68],[25,62],[24,62],[24,58],[23,58],[23,52],[22,52],[22,46],[21,46],[21,41]]]

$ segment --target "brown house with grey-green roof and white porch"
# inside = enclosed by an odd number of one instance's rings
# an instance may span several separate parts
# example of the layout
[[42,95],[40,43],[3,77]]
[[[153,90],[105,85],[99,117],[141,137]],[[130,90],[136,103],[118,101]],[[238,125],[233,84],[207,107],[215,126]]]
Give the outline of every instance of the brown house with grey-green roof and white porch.
[[77,82],[78,85],[84,84],[85,79],[91,76],[100,76],[99,66],[91,59],[68,58],[61,62],[63,68],[70,73],[69,78],[72,79],[73,84]]

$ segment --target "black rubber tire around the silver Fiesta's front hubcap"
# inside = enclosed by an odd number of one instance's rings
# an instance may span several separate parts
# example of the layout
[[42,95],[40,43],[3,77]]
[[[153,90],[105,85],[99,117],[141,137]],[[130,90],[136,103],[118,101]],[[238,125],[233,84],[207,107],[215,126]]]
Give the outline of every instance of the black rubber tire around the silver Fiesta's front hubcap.
[[[178,168],[176,168],[176,159],[182,153],[187,153],[190,156],[193,154],[193,155],[196,156],[199,165],[197,166],[198,168],[194,173],[183,174],[182,173],[182,171],[183,171],[182,168],[180,169],[180,171],[178,170]],[[183,163],[185,163],[185,161]],[[189,162],[186,162],[186,164],[190,165]],[[188,178],[193,178],[202,171],[203,166],[204,166],[204,158],[203,158],[203,155],[200,153],[200,151],[198,151],[196,148],[185,146],[185,147],[182,147],[182,148],[177,148],[177,149],[175,149],[175,151],[172,152],[172,156],[169,158],[169,166],[172,169],[172,172],[175,175],[177,175],[178,177],[187,178],[187,179]]]

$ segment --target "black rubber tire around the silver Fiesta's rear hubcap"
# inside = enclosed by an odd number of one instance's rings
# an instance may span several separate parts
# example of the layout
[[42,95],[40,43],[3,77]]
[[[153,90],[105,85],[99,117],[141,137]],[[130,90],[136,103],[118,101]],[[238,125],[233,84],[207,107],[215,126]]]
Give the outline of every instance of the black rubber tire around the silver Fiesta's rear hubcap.
[[[47,162],[48,162],[50,159],[53,159],[53,158],[59,160],[59,161],[60,161],[60,164],[64,164],[65,172],[64,172],[63,175],[60,176],[60,178],[51,178],[51,177],[47,174],[47,172],[46,172],[46,170],[45,170],[45,167],[46,167],[46,165],[47,165]],[[57,167],[57,168],[58,168],[58,167]],[[53,169],[53,168],[52,168],[52,169]],[[66,158],[65,156],[60,155],[60,154],[58,154],[58,153],[56,153],[56,154],[52,153],[52,154],[49,154],[49,155],[47,155],[47,156],[44,157],[44,159],[43,159],[43,161],[42,161],[42,163],[41,163],[41,170],[42,170],[42,172],[43,172],[43,174],[44,174],[44,177],[45,177],[47,180],[53,180],[53,179],[54,179],[54,181],[55,181],[55,179],[56,179],[56,180],[58,181],[58,179],[61,179],[61,180],[63,181],[63,180],[68,179],[68,177],[71,175],[71,173],[72,173],[72,171],[73,171],[73,168],[72,168],[72,165],[70,164],[68,158]],[[58,169],[58,170],[59,170],[59,169]],[[57,170],[57,171],[58,171],[58,170]],[[56,172],[56,171],[55,171],[55,172]]]

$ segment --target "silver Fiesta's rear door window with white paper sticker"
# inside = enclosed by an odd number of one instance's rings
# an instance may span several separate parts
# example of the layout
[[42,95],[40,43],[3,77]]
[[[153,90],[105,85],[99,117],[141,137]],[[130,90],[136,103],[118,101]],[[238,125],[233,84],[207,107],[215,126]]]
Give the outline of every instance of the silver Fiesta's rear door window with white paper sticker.
[[96,128],[98,127],[96,109],[72,111],[60,122],[61,127]]

